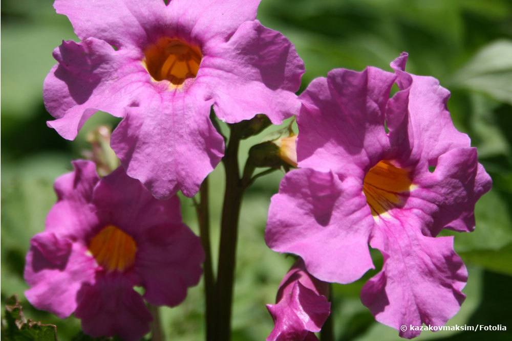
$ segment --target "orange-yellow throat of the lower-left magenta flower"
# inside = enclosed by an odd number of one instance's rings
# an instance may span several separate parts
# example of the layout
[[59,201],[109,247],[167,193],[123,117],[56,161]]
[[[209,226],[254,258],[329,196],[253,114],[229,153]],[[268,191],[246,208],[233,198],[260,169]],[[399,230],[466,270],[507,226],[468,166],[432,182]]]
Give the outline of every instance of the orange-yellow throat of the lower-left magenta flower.
[[121,229],[107,225],[91,240],[89,252],[107,271],[124,271],[135,263],[137,243]]

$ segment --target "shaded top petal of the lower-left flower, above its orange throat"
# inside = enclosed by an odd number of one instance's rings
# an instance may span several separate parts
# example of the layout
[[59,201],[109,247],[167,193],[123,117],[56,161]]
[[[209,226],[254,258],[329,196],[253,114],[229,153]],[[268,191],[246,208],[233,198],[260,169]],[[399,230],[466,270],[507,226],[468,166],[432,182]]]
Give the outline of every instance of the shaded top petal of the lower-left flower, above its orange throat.
[[122,167],[101,179],[94,190],[93,202],[102,221],[119,226],[135,239],[155,225],[181,223],[178,197],[155,199],[139,180],[126,175]]

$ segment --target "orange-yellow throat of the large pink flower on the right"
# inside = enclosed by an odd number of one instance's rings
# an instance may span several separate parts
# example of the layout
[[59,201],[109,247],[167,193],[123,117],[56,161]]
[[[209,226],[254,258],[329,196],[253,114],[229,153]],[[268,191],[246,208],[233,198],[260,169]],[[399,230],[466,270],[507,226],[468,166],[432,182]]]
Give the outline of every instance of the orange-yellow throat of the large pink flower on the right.
[[395,167],[388,161],[380,161],[372,167],[362,185],[362,192],[374,217],[399,206],[403,195],[412,189],[409,171]]

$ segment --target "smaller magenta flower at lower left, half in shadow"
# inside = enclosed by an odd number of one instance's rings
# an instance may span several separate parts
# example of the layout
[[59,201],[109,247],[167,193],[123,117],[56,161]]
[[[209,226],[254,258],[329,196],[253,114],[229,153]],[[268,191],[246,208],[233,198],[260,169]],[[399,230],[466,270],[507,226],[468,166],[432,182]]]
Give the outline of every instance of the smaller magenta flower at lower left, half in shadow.
[[57,203],[27,255],[29,302],[92,336],[138,340],[152,320],[142,297],[175,306],[201,277],[199,238],[182,223],[177,197],[159,201],[122,168],[99,179],[89,161],[55,181]]

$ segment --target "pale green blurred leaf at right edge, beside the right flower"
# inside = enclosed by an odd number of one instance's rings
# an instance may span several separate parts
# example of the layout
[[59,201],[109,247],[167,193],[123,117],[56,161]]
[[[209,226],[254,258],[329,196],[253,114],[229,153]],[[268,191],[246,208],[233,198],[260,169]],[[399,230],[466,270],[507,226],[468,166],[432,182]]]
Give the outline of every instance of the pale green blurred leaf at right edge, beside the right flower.
[[512,104],[512,40],[483,47],[454,76],[454,84]]

